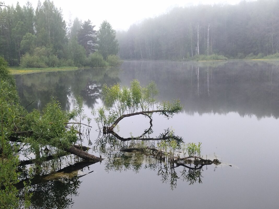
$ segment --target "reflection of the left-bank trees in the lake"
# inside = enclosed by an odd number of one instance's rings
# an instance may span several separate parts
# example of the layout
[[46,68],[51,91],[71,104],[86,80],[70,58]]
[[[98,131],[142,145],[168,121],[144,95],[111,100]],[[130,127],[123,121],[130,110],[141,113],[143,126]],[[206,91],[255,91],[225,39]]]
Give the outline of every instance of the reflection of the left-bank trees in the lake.
[[57,97],[64,110],[73,105],[73,97],[81,96],[90,108],[97,103],[104,83],[119,82],[119,69],[96,68],[76,71],[42,72],[16,75],[16,85],[22,106],[27,110],[42,110],[52,96]]

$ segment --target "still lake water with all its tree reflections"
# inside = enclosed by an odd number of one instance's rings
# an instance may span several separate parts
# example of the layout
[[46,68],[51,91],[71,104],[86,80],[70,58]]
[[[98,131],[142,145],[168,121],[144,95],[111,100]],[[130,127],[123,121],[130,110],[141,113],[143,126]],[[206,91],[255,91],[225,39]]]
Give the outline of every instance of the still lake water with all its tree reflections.
[[[183,167],[166,172],[164,163],[152,157],[107,149],[102,153],[105,161],[83,171],[93,171],[88,175],[38,184],[33,205],[48,201],[45,208],[63,208],[66,203],[73,208],[279,208],[279,62],[131,61],[120,69],[21,75],[16,82],[23,106],[35,100],[28,110],[42,110],[51,96],[69,110],[80,95],[90,115],[91,108],[102,105],[104,83],[129,86],[134,78],[142,85],[155,81],[160,101],[179,98],[184,106],[170,120],[154,115],[154,136],[171,127],[186,143],[202,142],[201,154],[216,156],[222,164],[204,166],[199,173]],[[97,125],[91,125],[94,143]],[[120,135],[130,137],[140,135],[149,121],[137,116],[119,125]],[[185,174],[200,179],[187,181]],[[42,198],[46,193],[48,198]]]

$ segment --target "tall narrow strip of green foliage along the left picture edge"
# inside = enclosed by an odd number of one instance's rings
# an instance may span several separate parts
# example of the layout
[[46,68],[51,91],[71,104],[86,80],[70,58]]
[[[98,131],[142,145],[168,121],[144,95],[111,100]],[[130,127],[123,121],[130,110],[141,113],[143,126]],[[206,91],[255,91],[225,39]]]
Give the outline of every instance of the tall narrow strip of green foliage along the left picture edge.
[[18,182],[18,146],[9,142],[15,124],[21,123],[23,108],[18,105],[19,98],[15,80],[10,75],[8,65],[0,57],[0,208],[18,208],[19,198],[15,184]]

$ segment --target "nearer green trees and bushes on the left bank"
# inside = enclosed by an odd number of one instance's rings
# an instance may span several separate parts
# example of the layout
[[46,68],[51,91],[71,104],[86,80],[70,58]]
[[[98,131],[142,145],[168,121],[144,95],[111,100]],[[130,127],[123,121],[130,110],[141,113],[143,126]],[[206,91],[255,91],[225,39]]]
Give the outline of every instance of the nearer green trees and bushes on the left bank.
[[0,7],[0,56],[21,67],[118,65],[116,31],[103,21],[94,30],[91,20],[76,18],[66,25],[53,1],[28,1]]

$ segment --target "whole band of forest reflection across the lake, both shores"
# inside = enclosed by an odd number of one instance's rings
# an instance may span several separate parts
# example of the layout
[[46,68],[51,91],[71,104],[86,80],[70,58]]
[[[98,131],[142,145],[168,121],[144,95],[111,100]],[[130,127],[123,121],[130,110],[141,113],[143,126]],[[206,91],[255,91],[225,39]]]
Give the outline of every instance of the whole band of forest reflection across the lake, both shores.
[[119,69],[83,69],[17,75],[21,102],[28,110],[39,110],[56,96],[65,110],[73,97],[82,96],[85,105],[94,107],[101,87],[120,82],[130,85],[138,79],[142,85],[150,80],[160,90],[159,99],[179,98],[187,114],[198,112],[256,115],[258,118],[279,116],[279,62],[166,62],[126,61]]

